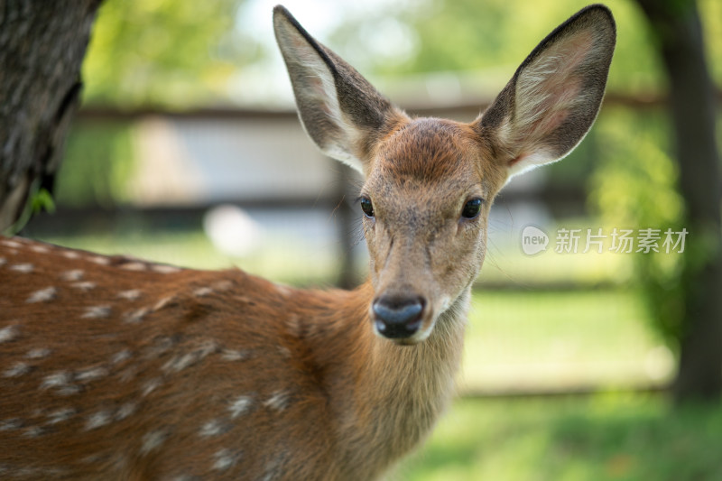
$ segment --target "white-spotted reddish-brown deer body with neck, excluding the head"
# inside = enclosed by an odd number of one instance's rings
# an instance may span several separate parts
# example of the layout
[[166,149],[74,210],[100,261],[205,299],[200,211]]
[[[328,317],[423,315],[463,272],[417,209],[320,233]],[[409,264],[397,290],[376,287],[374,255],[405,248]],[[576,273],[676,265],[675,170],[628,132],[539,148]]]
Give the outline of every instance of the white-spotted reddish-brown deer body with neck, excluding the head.
[[368,328],[368,285],[301,291],[19,238],[0,259],[0,475],[371,477],[430,429],[458,366],[460,320],[396,346]]

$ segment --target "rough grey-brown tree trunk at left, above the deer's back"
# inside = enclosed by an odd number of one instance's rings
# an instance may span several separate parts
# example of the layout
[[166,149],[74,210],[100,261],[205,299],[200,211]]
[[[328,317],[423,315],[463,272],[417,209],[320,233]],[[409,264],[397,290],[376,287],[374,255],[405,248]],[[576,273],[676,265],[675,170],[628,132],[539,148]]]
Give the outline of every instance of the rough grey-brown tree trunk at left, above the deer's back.
[[101,0],[0,0],[0,232],[52,191]]

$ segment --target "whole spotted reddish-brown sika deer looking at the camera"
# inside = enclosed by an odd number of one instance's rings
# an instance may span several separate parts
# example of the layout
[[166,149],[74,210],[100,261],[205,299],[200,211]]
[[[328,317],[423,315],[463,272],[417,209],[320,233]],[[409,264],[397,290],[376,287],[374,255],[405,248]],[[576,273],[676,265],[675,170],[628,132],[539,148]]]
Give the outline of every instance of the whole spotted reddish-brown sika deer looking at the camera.
[[0,477],[374,479],[449,402],[492,200],[587,133],[612,15],[562,23],[471,124],[405,115],[282,6],[273,23],[310,138],[366,176],[370,280],[0,240]]

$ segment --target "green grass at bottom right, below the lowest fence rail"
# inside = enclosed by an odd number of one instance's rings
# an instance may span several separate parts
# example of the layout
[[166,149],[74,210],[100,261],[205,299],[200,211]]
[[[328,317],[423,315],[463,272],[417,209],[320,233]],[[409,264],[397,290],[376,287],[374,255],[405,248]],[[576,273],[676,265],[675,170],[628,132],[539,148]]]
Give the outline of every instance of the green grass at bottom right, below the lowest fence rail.
[[395,481],[716,481],[722,406],[661,396],[456,402]]

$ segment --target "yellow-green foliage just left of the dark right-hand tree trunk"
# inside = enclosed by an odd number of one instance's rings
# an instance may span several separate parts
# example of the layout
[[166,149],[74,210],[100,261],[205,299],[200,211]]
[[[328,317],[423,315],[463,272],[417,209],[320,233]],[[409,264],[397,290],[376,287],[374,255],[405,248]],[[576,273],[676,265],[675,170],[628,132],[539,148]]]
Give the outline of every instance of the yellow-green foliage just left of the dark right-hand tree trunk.
[[[671,158],[669,129],[663,117],[615,110],[597,123],[597,136],[606,145],[592,181],[590,201],[605,224],[619,228],[684,227],[683,200],[676,188],[677,168]],[[634,132],[634,139],[630,133]],[[654,327],[677,347],[682,334],[684,292],[680,279],[689,258],[685,253],[634,254],[634,285],[641,285]]]

